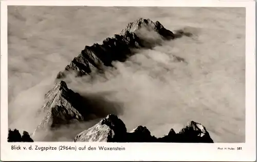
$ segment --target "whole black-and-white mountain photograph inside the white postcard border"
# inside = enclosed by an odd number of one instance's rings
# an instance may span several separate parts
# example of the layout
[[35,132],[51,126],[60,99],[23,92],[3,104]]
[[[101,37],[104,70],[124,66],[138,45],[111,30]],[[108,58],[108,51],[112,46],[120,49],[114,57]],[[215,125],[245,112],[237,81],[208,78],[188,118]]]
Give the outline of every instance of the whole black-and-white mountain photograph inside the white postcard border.
[[8,142],[245,142],[246,9],[8,6]]

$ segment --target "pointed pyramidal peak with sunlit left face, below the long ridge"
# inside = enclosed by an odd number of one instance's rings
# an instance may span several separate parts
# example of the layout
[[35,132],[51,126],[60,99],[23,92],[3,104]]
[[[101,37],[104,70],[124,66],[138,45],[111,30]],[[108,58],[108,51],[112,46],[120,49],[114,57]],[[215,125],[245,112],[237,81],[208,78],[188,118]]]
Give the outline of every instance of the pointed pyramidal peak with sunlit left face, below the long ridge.
[[42,109],[45,113],[45,118],[35,131],[84,121],[89,114],[83,104],[83,98],[69,89],[64,81],[57,82],[47,92]]

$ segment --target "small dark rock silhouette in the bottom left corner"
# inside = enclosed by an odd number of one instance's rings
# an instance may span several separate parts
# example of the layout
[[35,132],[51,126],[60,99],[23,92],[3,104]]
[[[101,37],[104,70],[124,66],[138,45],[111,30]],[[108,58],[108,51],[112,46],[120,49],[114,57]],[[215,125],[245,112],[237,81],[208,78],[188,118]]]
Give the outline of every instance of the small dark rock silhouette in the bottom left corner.
[[9,129],[8,142],[34,142],[28,132],[23,131],[23,135],[20,134],[19,130]]

